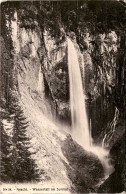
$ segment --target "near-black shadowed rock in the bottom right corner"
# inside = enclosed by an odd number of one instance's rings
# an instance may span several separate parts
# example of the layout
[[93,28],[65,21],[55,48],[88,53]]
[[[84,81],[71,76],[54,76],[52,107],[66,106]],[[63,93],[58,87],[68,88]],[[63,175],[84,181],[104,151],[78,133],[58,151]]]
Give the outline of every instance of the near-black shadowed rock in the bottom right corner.
[[111,148],[110,153],[115,161],[115,171],[100,186],[99,193],[121,193],[126,191],[125,138],[124,134]]

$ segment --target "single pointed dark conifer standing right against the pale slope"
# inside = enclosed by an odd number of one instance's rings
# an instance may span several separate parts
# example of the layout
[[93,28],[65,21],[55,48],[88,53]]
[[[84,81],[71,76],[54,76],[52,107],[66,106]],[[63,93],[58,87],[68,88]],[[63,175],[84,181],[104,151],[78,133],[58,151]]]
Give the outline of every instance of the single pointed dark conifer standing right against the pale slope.
[[18,165],[15,168],[13,179],[14,181],[33,181],[39,178],[36,170],[34,160],[31,158],[30,139],[27,137],[26,128],[28,122],[23,116],[23,111],[18,110],[14,118],[14,129],[13,129],[13,144],[15,155],[15,163]]

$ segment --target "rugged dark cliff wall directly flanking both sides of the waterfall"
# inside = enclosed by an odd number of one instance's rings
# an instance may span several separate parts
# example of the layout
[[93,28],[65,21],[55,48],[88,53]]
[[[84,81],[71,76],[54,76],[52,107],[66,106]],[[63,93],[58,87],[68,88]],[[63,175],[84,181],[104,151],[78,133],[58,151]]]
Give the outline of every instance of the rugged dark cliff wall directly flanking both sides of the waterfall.
[[[72,37],[76,37],[75,33],[71,32],[71,34]],[[106,146],[109,146],[124,133],[124,118],[122,118],[122,107],[118,97],[119,83],[117,83],[117,56],[119,55],[121,37],[115,31],[95,36],[87,32],[81,36],[84,39],[84,44],[87,45],[86,49],[81,52],[84,66],[82,67],[80,62],[80,67],[92,134],[94,138],[99,139],[99,142],[104,139]],[[57,117],[67,122],[70,120],[67,41],[65,40],[56,46],[56,39],[52,40],[47,34],[45,37],[45,45],[49,45],[46,48],[47,55],[44,56],[43,62],[45,79],[52,94]],[[75,39],[74,41],[76,46],[77,42]],[[81,47],[82,42],[80,41],[78,44]],[[121,79],[122,97],[120,98],[124,98],[124,67]],[[118,126],[120,119],[122,124],[120,123]],[[121,130],[120,135],[118,128]]]

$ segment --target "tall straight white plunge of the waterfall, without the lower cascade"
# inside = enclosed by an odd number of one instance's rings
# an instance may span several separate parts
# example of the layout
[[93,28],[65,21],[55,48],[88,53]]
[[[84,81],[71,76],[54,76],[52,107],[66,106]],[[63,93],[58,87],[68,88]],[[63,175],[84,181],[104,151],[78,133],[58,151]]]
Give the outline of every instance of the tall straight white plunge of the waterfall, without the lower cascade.
[[79,144],[89,148],[91,144],[81,71],[74,44],[68,39],[68,68],[70,80],[70,107],[72,136]]

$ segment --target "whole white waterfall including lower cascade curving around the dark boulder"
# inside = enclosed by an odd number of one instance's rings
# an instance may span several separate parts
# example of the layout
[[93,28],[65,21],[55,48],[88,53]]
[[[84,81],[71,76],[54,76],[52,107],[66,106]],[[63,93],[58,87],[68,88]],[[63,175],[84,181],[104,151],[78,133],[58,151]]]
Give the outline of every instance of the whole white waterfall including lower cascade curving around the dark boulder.
[[68,70],[70,80],[70,107],[71,107],[71,120],[72,120],[72,138],[77,141],[85,150],[97,155],[100,159],[105,178],[107,178],[114,168],[110,163],[109,150],[103,146],[93,145],[91,131],[88,125],[86,114],[86,105],[84,99],[82,78],[80,65],[78,61],[77,51],[74,43],[67,38],[68,42]]

